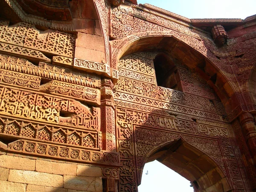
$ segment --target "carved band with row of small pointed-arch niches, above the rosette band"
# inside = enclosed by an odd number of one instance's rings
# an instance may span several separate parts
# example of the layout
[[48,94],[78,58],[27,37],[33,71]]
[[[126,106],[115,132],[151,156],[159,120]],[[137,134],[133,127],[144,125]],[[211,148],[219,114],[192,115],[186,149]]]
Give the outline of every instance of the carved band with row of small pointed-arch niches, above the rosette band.
[[51,126],[43,123],[0,118],[0,136],[12,140],[29,139],[64,147],[79,147],[90,150],[102,149],[102,132],[87,131],[65,126]]

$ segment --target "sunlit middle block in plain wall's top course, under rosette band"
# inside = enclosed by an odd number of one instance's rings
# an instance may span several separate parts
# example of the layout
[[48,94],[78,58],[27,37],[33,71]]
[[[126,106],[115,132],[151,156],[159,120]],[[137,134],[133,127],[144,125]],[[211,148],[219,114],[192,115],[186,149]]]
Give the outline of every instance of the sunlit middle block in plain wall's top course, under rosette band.
[[76,175],[76,164],[36,160],[35,170],[57,175]]

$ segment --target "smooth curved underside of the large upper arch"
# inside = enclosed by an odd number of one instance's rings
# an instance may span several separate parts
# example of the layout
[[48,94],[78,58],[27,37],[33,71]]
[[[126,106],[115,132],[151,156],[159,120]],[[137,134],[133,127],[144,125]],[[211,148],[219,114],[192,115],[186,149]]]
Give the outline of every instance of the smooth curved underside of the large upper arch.
[[[140,34],[138,34],[138,36],[140,36]],[[204,49],[207,48],[204,47]],[[218,63],[219,61],[212,58],[212,52],[207,51],[207,55],[205,55],[173,35],[151,35],[140,37],[128,41],[122,48],[119,47],[119,49],[114,50],[116,51],[116,60],[113,62],[113,66],[119,62],[120,58],[137,52],[156,51],[171,55],[172,59],[182,62],[189,70],[195,71],[195,73],[204,79],[221,99],[227,116],[232,112],[232,109],[230,108],[230,100],[234,95],[235,90],[222,70],[214,63]],[[208,56],[208,52],[210,56]],[[224,116],[224,118],[226,118],[226,116]],[[233,117],[231,116],[231,118]]]

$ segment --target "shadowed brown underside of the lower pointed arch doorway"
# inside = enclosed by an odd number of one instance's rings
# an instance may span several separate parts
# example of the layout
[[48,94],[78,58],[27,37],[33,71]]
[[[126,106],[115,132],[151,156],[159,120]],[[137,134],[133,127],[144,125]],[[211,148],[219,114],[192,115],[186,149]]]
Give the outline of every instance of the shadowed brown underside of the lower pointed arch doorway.
[[215,161],[182,138],[152,151],[145,163],[154,160],[189,180],[195,192],[231,191],[227,177]]

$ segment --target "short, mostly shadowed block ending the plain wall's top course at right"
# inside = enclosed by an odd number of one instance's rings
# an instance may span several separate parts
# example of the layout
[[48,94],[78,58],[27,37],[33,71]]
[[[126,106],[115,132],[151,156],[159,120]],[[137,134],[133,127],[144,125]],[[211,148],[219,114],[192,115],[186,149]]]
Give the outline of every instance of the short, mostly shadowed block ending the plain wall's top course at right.
[[102,169],[94,166],[77,165],[76,175],[88,177],[101,177]]

